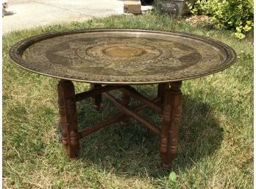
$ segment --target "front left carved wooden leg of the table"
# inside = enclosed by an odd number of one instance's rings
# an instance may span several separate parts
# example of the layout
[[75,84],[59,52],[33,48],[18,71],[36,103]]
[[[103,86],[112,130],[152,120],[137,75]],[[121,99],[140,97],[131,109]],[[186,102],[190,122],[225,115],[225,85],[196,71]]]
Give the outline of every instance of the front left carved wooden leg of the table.
[[77,158],[79,152],[79,132],[77,127],[77,106],[74,85],[71,81],[60,79],[57,86],[60,123],[62,127],[61,141],[71,158]]

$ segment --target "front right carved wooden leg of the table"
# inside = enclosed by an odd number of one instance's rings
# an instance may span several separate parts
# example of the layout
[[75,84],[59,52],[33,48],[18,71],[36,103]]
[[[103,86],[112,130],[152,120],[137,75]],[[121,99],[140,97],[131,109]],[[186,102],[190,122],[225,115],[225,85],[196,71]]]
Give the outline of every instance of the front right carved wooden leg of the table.
[[179,124],[182,115],[182,82],[171,82],[166,88],[163,104],[163,128],[160,132],[160,157],[163,168],[170,168],[171,161],[177,157]]

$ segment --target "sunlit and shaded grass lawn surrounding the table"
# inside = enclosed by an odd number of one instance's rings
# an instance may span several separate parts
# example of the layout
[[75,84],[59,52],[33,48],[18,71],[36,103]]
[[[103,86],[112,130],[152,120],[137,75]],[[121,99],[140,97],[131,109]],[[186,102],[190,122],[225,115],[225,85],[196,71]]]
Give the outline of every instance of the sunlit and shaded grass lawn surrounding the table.
[[[4,188],[171,188],[160,168],[159,138],[132,120],[114,124],[82,140],[79,160],[68,161],[57,140],[58,79],[32,74],[11,63],[7,52],[18,40],[66,29],[141,28],[191,32],[221,40],[238,54],[235,65],[218,74],[183,82],[183,115],[173,188],[252,188],[253,46],[231,32],[190,26],[153,14],[111,16],[84,23],[10,32],[3,37]],[[77,92],[87,84],[75,82]],[[149,97],[155,85],[138,86]],[[137,104],[138,101],[132,101]],[[98,112],[78,104],[79,124],[90,126],[118,112],[104,99]],[[153,110],[143,115],[160,125]]]

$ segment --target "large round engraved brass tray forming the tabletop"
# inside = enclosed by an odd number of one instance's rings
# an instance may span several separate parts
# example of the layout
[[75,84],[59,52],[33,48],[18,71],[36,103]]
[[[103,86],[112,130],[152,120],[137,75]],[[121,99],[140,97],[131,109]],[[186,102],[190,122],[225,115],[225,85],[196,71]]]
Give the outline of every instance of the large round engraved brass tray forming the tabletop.
[[138,29],[94,29],[27,38],[10,49],[26,70],[79,82],[149,84],[224,70],[235,51],[199,35]]

